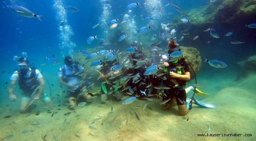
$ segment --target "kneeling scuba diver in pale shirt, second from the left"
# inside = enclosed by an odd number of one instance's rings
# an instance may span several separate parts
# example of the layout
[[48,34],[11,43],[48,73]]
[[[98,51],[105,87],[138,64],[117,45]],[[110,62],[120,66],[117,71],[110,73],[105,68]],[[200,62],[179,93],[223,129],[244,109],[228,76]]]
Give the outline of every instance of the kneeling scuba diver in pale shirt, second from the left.
[[80,96],[85,100],[89,100],[91,99],[91,94],[89,92],[81,92],[85,81],[82,81],[82,75],[79,74],[83,73],[83,67],[78,63],[74,63],[70,56],[65,57],[64,63],[65,65],[58,70],[59,83],[67,86],[70,103],[68,108],[73,110]]

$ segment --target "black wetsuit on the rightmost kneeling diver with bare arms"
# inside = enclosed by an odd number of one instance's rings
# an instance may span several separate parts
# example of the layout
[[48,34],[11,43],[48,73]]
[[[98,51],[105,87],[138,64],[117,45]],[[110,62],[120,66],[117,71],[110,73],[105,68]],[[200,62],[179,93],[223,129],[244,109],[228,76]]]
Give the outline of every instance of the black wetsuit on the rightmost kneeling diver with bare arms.
[[[183,68],[176,68],[176,66],[183,66]],[[164,90],[164,93],[167,96],[163,95],[163,101],[167,100],[167,99],[173,99],[174,97],[176,98],[176,102],[178,105],[186,105],[186,91],[185,91],[185,85],[186,85],[186,80],[181,80],[179,78],[171,78],[169,76],[169,72],[175,72],[177,73],[178,71],[183,75],[185,72],[189,72],[189,67],[186,63],[186,61],[184,60],[184,58],[182,58],[182,60],[179,60],[177,63],[171,63],[169,62],[169,67],[168,67],[168,71],[166,72],[166,76],[167,76],[167,80],[164,80],[163,83],[166,85],[166,87],[170,87],[171,89],[169,90]],[[177,88],[173,88],[175,85],[174,83],[171,82],[171,80],[176,80],[176,82],[180,85]],[[171,100],[169,101],[171,102]]]

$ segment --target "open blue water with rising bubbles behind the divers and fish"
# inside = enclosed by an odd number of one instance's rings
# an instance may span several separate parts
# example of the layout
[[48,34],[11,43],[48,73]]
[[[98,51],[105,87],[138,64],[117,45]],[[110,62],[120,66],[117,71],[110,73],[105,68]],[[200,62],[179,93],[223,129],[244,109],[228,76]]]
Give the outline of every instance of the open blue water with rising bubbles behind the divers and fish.
[[[190,9],[198,8],[200,4],[208,2],[208,0],[171,0],[174,5],[182,8],[184,12]],[[110,2],[110,4],[107,4]],[[126,10],[126,5],[138,2],[137,0],[4,0],[0,2],[0,60],[1,67],[0,72],[0,105],[13,104],[9,102],[9,96],[6,87],[9,84],[9,78],[11,74],[9,71],[17,68],[17,62],[13,61],[13,56],[21,56],[21,52],[28,54],[28,60],[30,63],[35,63],[35,67],[39,71],[43,71],[43,75],[49,81],[49,84],[58,85],[58,69],[63,65],[64,56],[72,56],[82,49],[95,48],[99,45],[99,40],[95,40],[91,44],[87,44],[86,40],[89,36],[97,35],[98,38],[108,39],[112,44],[108,49],[115,49],[125,51],[127,47],[130,47],[135,41],[141,42],[145,45],[150,42],[150,38],[154,34],[157,41],[159,32],[163,32],[160,24],[163,22],[172,23],[173,18],[176,15],[180,15],[180,11],[173,8],[171,5],[165,7],[169,3],[168,0],[152,0],[154,5],[146,7],[144,5],[145,0],[140,0],[141,6],[137,6],[136,9],[129,13]],[[159,2],[159,3],[158,3]],[[20,5],[33,11],[37,15],[43,15],[42,22],[37,18],[26,18],[12,13],[8,9],[7,5]],[[77,13],[65,13],[65,6],[74,5],[78,7],[80,11]],[[142,18],[152,15],[150,9],[152,7],[162,5],[163,10],[156,12],[162,14],[159,20],[154,22],[143,21]],[[103,7],[105,6],[105,11]],[[167,13],[173,13],[167,15]],[[109,30],[108,27],[104,27],[104,19],[106,24],[110,20],[119,19],[123,21],[124,15],[128,14],[128,20],[134,19],[134,23],[131,23],[133,27],[128,29],[127,33],[130,35],[125,39],[125,42],[117,42],[122,30]],[[142,16],[140,16],[143,14]],[[132,17],[132,18],[131,18]],[[186,17],[184,17],[186,18]],[[68,24],[61,27],[59,23],[63,20],[67,20]],[[251,20],[252,21],[252,20]],[[254,19],[254,23],[255,23]],[[96,24],[100,24],[96,29],[92,27]],[[223,26],[221,22],[214,23],[214,29],[221,34],[221,38],[215,39],[210,37],[210,34],[200,33],[199,38],[193,42],[191,40],[183,40],[178,42],[181,46],[195,47],[201,55],[202,61],[204,57],[208,59],[221,60],[228,64],[226,68],[214,68],[208,63],[202,62],[202,68],[198,72],[198,83],[207,85],[207,88],[202,88],[204,92],[210,94],[216,94],[219,90],[225,87],[231,87],[239,74],[238,61],[246,60],[249,56],[256,54],[256,31],[255,29],[244,28],[243,21],[237,20],[237,23]],[[234,27],[233,27],[234,25]],[[241,25],[240,29],[237,29],[237,25]],[[121,26],[121,25],[119,25]],[[148,32],[143,38],[132,36],[134,31],[144,26],[152,26],[152,30]],[[61,29],[61,28],[67,29]],[[209,27],[210,28],[210,27]],[[174,27],[177,31],[186,29],[186,27]],[[193,30],[193,29],[190,29]],[[201,29],[203,31],[205,29]],[[232,31],[230,37],[223,37],[227,32]],[[177,32],[177,38],[182,36]],[[204,36],[203,38],[200,38]],[[193,39],[193,36],[190,37]],[[210,43],[207,43],[210,41]],[[244,44],[230,44],[232,41],[243,41]],[[167,42],[165,43],[167,45]],[[98,49],[100,51],[100,49]],[[91,53],[91,52],[90,52]],[[46,60],[46,57],[56,56],[62,63],[60,65],[52,65]],[[43,64],[43,65],[42,65]],[[46,65],[44,65],[46,64]],[[224,79],[224,80],[223,80]],[[218,84],[219,81],[219,84]],[[223,83],[223,84],[222,84]],[[191,80],[187,85],[193,85],[194,80]],[[59,92],[56,87],[52,88],[52,95],[56,96]],[[48,84],[45,89],[48,88]],[[18,88],[15,92],[21,92]],[[49,91],[48,91],[49,93]],[[190,93],[191,95],[192,93]],[[18,94],[19,95],[19,94]],[[203,98],[199,98],[203,99]],[[99,100],[99,99],[98,99]],[[6,102],[8,101],[8,102]],[[13,107],[18,111],[19,103],[16,103],[17,107]],[[2,118],[2,117],[0,117]],[[2,136],[1,136],[2,137]]]

